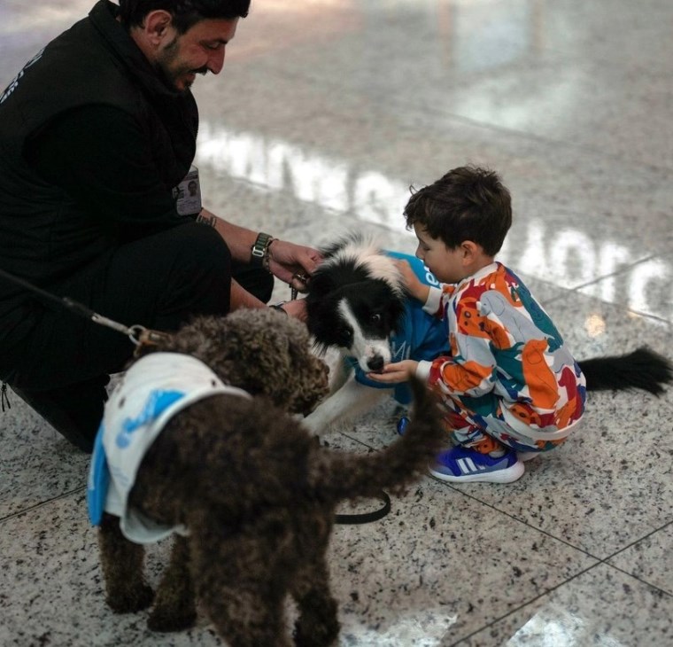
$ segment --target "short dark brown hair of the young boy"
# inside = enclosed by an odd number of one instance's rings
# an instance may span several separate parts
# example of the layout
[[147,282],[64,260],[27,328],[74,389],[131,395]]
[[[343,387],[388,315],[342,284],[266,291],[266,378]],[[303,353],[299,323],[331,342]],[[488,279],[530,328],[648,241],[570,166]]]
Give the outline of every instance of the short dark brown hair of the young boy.
[[495,256],[512,225],[512,199],[494,171],[459,167],[415,191],[404,214],[407,229],[421,225],[451,249],[471,240]]

